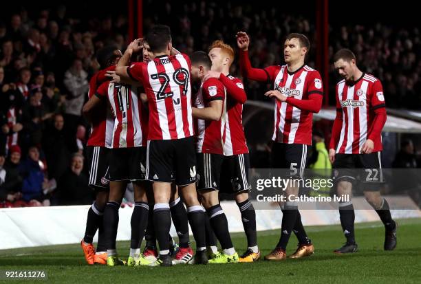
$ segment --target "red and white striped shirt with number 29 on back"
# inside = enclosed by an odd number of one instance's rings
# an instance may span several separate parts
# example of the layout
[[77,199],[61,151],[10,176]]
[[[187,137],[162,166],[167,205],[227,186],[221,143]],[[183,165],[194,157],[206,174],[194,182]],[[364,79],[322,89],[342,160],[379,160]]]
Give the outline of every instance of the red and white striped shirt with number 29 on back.
[[129,76],[142,83],[148,96],[148,140],[193,136],[190,70],[186,54],[157,56],[149,63],[127,67]]

